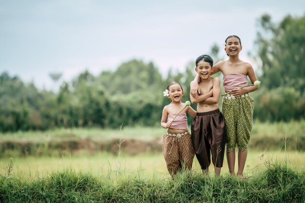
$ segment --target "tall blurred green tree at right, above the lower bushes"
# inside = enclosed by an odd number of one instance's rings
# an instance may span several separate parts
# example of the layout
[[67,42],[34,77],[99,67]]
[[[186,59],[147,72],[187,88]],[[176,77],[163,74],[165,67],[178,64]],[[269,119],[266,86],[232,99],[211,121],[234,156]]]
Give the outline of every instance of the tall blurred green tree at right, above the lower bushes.
[[257,34],[258,57],[262,62],[262,84],[305,90],[305,16],[286,16],[279,24],[263,15]]

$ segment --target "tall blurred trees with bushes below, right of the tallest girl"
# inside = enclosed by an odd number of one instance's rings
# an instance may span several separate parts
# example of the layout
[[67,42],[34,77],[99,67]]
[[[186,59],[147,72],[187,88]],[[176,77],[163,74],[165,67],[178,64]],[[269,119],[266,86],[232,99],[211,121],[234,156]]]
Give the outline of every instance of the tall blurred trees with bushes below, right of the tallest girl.
[[254,117],[289,121],[305,116],[305,15],[286,16],[280,23],[268,14],[258,20],[255,41],[261,61],[261,87],[253,92]]

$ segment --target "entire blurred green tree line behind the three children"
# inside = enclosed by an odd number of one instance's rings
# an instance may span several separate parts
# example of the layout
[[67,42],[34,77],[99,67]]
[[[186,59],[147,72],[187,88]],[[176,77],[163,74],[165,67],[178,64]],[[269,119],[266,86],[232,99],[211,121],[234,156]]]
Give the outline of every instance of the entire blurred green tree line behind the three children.
[[[266,14],[258,23],[252,57],[260,64],[257,75],[262,83],[258,91],[251,93],[254,119],[304,119],[305,16],[286,16],[276,24]],[[219,60],[218,52],[219,47],[214,45],[210,55],[215,62]],[[163,107],[170,102],[162,92],[171,81],[178,81],[185,91],[183,101],[189,100],[194,67],[190,62],[183,73],[170,70],[162,76],[152,62],[132,59],[115,71],[97,76],[85,71],[63,82],[57,93],[38,90],[33,83],[25,84],[4,72],[0,75],[0,131],[157,126]]]

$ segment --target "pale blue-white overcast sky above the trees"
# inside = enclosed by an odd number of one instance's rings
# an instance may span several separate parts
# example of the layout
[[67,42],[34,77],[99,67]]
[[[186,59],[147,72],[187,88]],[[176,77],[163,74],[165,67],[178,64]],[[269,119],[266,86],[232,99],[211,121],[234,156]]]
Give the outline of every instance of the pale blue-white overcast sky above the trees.
[[50,90],[58,87],[51,72],[71,81],[133,58],[152,61],[162,74],[183,72],[229,35],[241,38],[240,57],[249,61],[257,20],[266,13],[274,22],[300,17],[305,1],[0,0],[0,74]]

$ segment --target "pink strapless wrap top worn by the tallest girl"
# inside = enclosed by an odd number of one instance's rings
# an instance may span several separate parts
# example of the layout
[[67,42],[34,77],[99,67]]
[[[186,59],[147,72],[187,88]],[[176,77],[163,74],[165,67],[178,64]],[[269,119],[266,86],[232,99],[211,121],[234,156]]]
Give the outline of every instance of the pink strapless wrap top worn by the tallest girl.
[[230,92],[234,88],[248,85],[247,75],[245,74],[226,74],[224,75],[225,92]]

